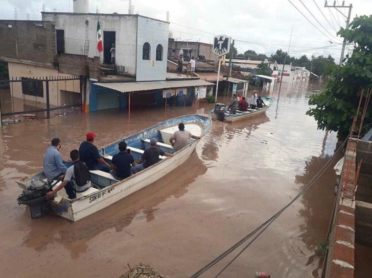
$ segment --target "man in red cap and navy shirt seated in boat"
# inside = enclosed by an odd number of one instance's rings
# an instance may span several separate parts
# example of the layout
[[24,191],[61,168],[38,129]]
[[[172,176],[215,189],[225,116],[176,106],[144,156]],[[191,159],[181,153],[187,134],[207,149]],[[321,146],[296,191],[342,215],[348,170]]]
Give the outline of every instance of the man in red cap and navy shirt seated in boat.
[[98,148],[93,144],[96,134],[89,132],[86,134],[86,141],[79,147],[80,161],[84,162],[89,170],[101,170],[110,172],[110,165],[100,156]]

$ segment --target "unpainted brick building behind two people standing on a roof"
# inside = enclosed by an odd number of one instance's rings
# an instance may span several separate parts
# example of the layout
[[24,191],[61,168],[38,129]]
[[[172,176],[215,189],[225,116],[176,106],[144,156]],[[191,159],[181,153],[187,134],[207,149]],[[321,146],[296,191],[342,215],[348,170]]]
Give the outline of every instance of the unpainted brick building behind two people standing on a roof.
[[[198,41],[176,41],[172,38],[173,33],[170,32],[168,41],[168,57],[177,57],[181,52],[185,58],[195,58],[203,60],[211,60],[218,62],[218,55],[213,53],[213,45]],[[200,59],[201,60],[201,59]]]

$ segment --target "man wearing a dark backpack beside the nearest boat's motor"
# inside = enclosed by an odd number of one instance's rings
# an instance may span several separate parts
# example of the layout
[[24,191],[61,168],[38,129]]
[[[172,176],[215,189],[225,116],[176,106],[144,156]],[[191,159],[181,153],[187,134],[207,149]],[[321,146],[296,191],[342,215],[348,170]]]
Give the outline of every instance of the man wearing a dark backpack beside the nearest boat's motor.
[[[67,169],[63,182],[56,189],[49,191],[45,198],[52,199],[54,194],[64,187],[68,198],[74,199],[76,198],[75,192],[84,192],[90,187],[89,168],[84,162],[79,161],[79,151],[77,149],[72,150],[70,157],[74,161],[74,165]],[[72,192],[67,192],[66,186],[69,183],[73,184]]]

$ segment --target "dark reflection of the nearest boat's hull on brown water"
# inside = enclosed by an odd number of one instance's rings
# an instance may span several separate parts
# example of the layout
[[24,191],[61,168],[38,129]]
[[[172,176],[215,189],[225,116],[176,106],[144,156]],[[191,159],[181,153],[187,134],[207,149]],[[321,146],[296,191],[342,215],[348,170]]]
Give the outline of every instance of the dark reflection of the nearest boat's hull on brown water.
[[[194,151],[187,161],[160,181],[77,222],[68,222],[66,219],[54,215],[33,221],[24,244],[41,251],[46,249],[49,243],[56,241],[70,251],[72,259],[77,259],[87,251],[87,242],[105,231],[107,233],[124,231],[133,236],[130,228],[129,230],[125,229],[133,218],[145,216],[148,222],[153,221],[156,212],[161,210],[158,208],[161,203],[168,198],[179,198],[187,193],[188,186],[206,170],[207,167]],[[29,217],[29,211],[26,211],[25,214],[25,217]]]

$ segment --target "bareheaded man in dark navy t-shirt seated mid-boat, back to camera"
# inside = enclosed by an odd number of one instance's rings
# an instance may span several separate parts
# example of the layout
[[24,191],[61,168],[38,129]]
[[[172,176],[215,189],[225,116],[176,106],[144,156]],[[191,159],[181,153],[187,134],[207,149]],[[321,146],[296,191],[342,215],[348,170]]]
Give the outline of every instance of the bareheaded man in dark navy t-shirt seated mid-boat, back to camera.
[[127,152],[127,143],[119,143],[120,153],[112,157],[110,174],[117,180],[128,178],[131,173],[131,166],[135,166],[133,156]]

